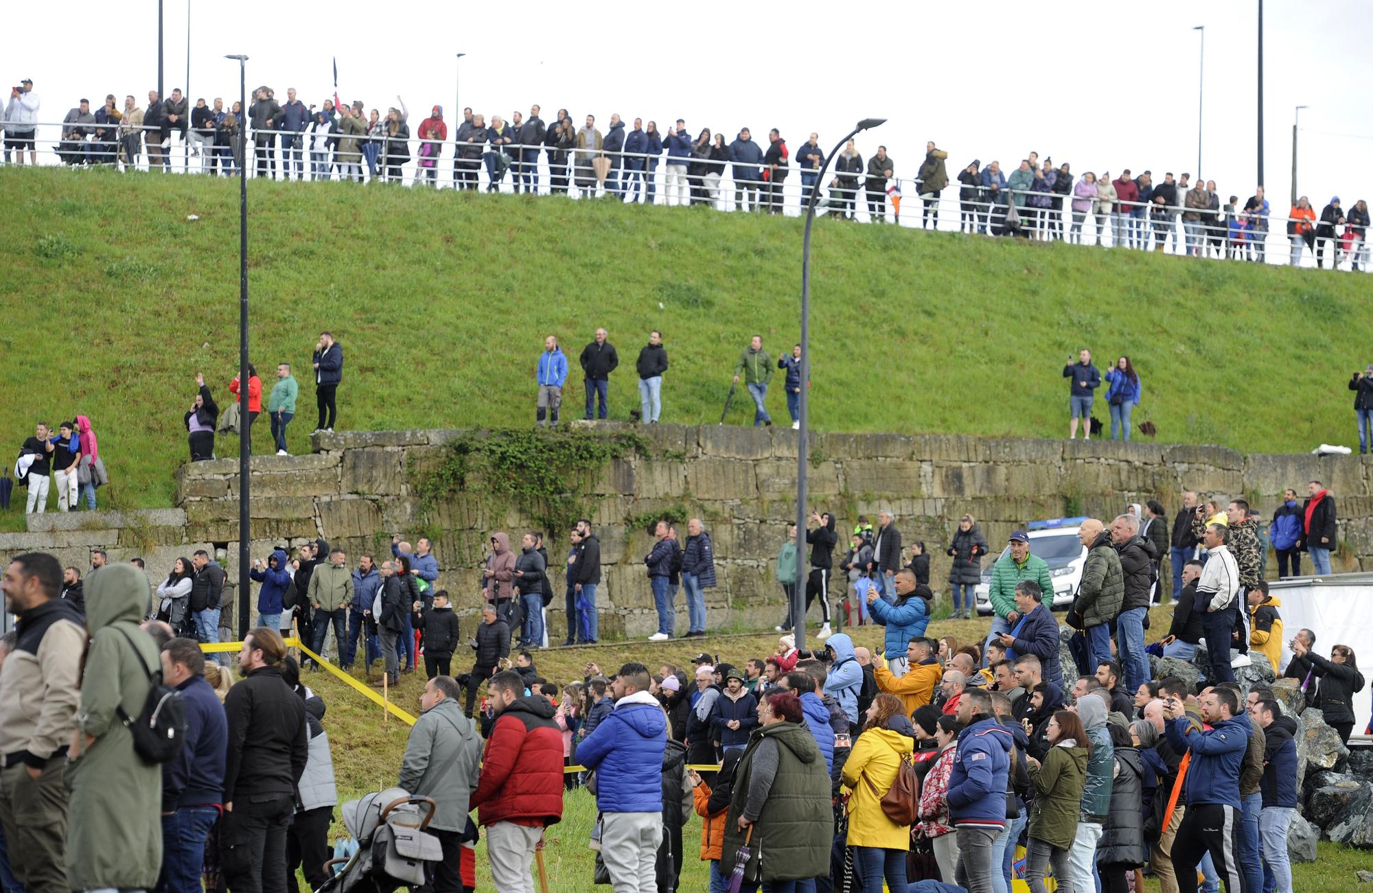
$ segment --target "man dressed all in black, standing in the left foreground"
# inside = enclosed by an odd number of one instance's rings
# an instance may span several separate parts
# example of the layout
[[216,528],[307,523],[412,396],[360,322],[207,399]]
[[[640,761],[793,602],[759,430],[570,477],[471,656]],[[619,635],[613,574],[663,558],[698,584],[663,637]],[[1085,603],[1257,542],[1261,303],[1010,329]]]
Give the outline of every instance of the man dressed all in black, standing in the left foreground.
[[281,679],[286,643],[258,626],[243,639],[243,681],[224,699],[228,747],[220,866],[235,893],[286,890],[286,828],[305,772],[305,703]]

